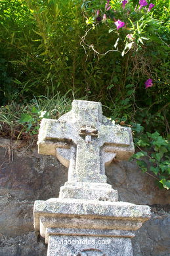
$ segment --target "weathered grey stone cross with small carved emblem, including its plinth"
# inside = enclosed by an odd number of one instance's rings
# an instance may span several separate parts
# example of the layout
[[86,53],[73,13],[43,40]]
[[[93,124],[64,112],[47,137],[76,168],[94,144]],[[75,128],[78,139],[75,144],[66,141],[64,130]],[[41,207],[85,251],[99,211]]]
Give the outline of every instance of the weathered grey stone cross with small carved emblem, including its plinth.
[[[43,119],[38,145],[39,154],[56,156],[69,167],[68,182],[60,189],[62,198],[101,199],[106,186],[113,193],[115,190],[106,184],[104,165],[115,156],[126,160],[134,152],[131,129],[102,116],[100,102],[86,100],[74,100],[72,110],[58,120]],[[97,183],[99,194],[94,195]],[[117,200],[115,193],[113,197]],[[102,198],[108,200],[106,195]]]

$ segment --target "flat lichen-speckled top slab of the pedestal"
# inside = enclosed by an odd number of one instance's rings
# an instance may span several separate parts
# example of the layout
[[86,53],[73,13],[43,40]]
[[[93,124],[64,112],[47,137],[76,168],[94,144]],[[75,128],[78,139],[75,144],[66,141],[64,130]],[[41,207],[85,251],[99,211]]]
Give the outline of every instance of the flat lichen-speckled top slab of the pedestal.
[[148,205],[135,205],[126,202],[102,202],[98,200],[75,200],[51,198],[47,201],[35,201],[35,217],[39,215],[87,215],[91,217],[113,217],[122,219],[140,219],[146,221],[150,218],[150,207]]

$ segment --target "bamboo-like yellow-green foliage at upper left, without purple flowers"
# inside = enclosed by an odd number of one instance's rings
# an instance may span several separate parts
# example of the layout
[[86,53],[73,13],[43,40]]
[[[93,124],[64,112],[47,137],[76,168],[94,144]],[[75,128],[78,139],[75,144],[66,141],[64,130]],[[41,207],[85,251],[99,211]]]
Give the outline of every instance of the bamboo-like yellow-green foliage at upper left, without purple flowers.
[[6,102],[79,89],[81,1],[3,0],[0,26],[14,88],[10,95],[11,88],[3,87]]

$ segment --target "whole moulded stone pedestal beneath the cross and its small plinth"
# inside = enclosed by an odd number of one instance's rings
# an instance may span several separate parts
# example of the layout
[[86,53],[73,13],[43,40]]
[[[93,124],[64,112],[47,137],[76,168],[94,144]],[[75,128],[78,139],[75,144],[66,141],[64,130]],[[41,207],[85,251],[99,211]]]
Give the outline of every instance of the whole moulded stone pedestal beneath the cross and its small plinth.
[[34,205],[47,256],[133,256],[131,238],[149,218],[150,207],[133,203],[52,198]]

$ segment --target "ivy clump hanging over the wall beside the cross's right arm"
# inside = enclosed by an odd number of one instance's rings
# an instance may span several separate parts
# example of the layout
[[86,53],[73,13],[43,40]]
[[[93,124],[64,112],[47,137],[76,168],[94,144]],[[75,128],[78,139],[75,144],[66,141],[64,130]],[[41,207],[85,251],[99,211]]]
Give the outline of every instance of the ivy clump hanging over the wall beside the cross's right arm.
[[[150,171],[157,177],[159,187],[170,188],[170,156],[169,142],[156,131],[155,133],[140,133],[135,138],[135,144],[143,150],[133,155],[143,172]],[[145,151],[144,151],[145,150]],[[146,161],[150,163],[147,166]]]

